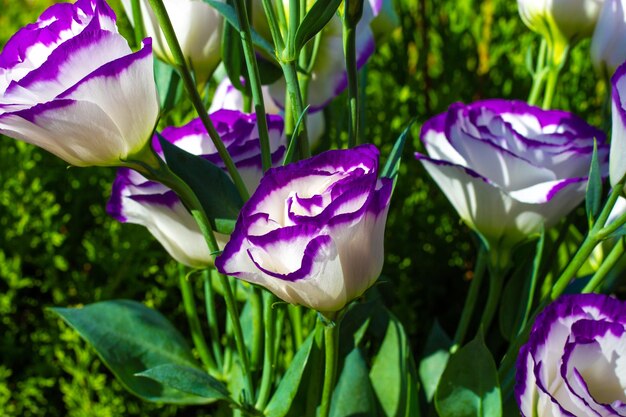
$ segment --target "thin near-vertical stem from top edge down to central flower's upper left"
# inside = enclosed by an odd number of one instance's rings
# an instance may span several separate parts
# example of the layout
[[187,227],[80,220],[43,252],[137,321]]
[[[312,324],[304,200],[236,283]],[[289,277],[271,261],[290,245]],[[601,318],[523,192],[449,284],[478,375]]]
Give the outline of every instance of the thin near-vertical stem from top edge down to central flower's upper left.
[[234,1],[235,12],[241,31],[241,45],[243,47],[243,55],[246,59],[246,68],[250,77],[250,90],[252,92],[252,101],[254,102],[254,111],[256,113],[256,121],[259,128],[259,141],[261,143],[261,161],[263,171],[267,171],[272,166],[272,155],[270,150],[270,138],[267,128],[267,116],[265,114],[265,103],[263,102],[263,91],[261,89],[261,75],[259,66],[256,61],[254,45],[252,44],[252,31],[250,30],[250,20],[246,10],[244,0]]

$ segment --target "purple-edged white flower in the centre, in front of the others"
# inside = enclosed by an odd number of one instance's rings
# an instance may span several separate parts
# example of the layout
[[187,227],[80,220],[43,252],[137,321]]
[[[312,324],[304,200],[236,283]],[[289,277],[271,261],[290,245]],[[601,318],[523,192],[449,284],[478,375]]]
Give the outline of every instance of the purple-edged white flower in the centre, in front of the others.
[[271,169],[215,265],[286,302],[339,311],[380,274],[391,188],[372,145]]

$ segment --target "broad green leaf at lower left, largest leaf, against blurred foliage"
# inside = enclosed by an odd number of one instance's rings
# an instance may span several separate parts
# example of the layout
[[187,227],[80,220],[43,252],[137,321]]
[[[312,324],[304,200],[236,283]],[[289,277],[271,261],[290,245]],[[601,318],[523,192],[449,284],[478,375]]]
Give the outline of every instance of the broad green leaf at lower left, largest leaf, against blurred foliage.
[[212,401],[136,376],[159,365],[196,366],[183,336],[159,312],[131,300],[51,311],[96,350],[102,362],[131,393],[144,400],[171,404]]

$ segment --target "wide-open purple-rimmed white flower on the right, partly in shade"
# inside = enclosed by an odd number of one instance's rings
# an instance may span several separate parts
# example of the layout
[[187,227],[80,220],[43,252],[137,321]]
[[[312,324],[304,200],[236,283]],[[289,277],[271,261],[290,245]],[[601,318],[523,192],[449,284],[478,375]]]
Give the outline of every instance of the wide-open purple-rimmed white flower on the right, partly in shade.
[[517,101],[453,104],[420,138],[428,156],[416,158],[492,248],[510,249],[584,199],[594,138],[607,159],[600,130]]

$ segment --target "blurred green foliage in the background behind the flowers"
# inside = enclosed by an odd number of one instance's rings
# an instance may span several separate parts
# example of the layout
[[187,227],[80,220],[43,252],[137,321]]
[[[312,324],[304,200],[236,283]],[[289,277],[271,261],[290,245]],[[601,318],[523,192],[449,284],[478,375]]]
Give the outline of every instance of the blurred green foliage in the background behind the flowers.
[[[50,3],[0,0],[0,45]],[[526,54],[539,42],[519,19],[516,2],[397,0],[395,6],[401,28],[379,43],[365,69],[364,124],[384,158],[408,122],[419,122],[405,149],[378,286],[419,354],[435,317],[453,332],[475,258],[467,228],[413,159],[419,125],[455,101],[525,99]],[[602,125],[605,89],[583,42],[554,106]],[[326,112],[332,141],[345,119],[341,100]],[[130,298],[158,308],[187,333],[173,263],[142,227],[118,224],[104,212],[114,175],[67,168],[44,151],[0,138],[2,416],[200,415],[127,394],[93,350],[45,310]]]

